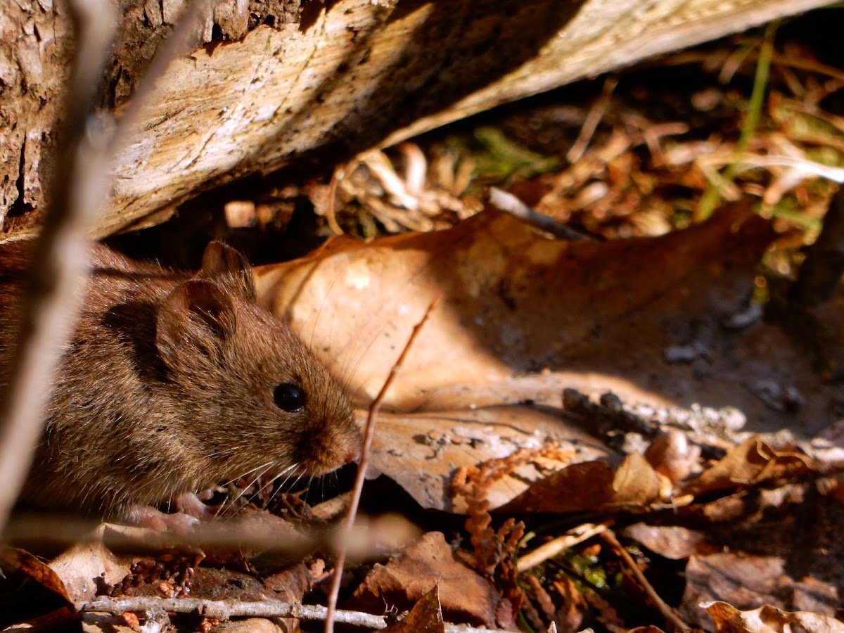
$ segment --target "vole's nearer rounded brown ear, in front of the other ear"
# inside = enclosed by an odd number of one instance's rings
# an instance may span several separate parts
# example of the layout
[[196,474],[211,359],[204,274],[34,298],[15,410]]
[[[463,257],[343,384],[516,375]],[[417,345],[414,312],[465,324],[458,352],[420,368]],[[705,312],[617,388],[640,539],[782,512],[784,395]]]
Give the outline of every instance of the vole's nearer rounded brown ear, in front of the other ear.
[[161,304],[155,344],[165,362],[185,344],[210,353],[235,335],[237,318],[231,296],[213,281],[191,279],[176,286]]

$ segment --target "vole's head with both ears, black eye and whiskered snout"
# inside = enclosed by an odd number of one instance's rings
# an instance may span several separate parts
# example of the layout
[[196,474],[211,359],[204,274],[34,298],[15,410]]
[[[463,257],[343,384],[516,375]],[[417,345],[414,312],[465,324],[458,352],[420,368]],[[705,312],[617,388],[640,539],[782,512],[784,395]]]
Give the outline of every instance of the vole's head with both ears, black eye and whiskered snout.
[[170,406],[209,477],[320,475],[357,456],[348,399],[289,326],[257,305],[240,252],[208,246],[197,277],[160,306],[155,344]]

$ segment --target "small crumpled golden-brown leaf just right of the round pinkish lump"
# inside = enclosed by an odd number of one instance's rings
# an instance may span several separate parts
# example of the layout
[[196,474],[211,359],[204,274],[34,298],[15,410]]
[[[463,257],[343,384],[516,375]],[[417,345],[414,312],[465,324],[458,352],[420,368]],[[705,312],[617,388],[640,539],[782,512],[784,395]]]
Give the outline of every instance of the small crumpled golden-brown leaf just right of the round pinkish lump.
[[689,494],[755,485],[770,479],[790,479],[809,473],[808,457],[794,450],[776,451],[758,437],[749,437],[684,487]]

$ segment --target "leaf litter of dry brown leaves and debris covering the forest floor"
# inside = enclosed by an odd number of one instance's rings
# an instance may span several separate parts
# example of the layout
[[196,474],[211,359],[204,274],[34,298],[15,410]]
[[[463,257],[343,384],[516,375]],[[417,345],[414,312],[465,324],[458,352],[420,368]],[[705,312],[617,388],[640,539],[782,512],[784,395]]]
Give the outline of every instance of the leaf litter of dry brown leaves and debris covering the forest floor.
[[[424,533],[349,571],[345,609],[387,610],[393,630],[844,630],[844,392],[819,370],[841,362],[841,299],[800,313],[825,328],[820,344],[763,318],[820,230],[833,187],[817,176],[844,162],[841,116],[825,110],[844,78],[798,45],[774,51],[741,158],[756,168],[727,181],[758,61],[739,59],[760,44],[746,37],[646,71],[668,85],[675,68],[699,68],[690,98],[634,71],[585,106],[528,102],[301,187],[334,232],[374,239],[335,237],[260,268],[259,292],[361,417],[440,301],[372,455],[371,484],[411,505],[370,506],[408,507]],[[594,239],[502,214],[484,203],[490,184]],[[704,221],[707,187],[733,202]],[[83,544],[46,574],[14,555],[3,570],[65,601],[136,581],[166,598],[187,563],[162,549]],[[324,551],[290,565],[204,548],[191,595],[318,603]],[[139,560],[176,562],[147,582]]]

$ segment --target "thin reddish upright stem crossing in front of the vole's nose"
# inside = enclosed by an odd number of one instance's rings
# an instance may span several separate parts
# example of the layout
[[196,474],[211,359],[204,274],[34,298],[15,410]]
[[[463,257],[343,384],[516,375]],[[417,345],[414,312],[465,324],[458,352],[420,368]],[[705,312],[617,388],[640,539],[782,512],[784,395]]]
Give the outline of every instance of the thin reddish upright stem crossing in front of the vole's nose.
[[428,306],[428,309],[425,311],[423,317],[414,326],[414,331],[410,333],[408,342],[407,344],[405,344],[402,353],[398,356],[398,360],[393,363],[392,369],[390,370],[390,374],[387,376],[387,380],[384,381],[384,386],[381,387],[381,391],[378,392],[378,395],[376,396],[375,400],[373,400],[370,405],[369,415],[366,418],[364,442],[360,450],[360,464],[358,466],[358,475],[354,479],[354,491],[352,492],[352,500],[349,502],[349,518],[346,520],[346,525],[343,531],[344,538],[341,539],[339,544],[337,562],[334,564],[334,576],[331,582],[331,592],[328,594],[328,612],[325,619],[326,633],[333,633],[334,630],[333,615],[334,612],[337,610],[337,598],[340,594],[340,580],[343,576],[343,567],[346,562],[346,549],[349,540],[348,537],[349,533],[351,533],[352,526],[354,525],[354,517],[355,515],[357,515],[358,512],[358,505],[360,504],[360,494],[363,491],[364,481],[366,479],[366,468],[369,466],[370,462],[372,438],[375,436],[376,414],[378,413],[378,409],[381,408],[381,402],[387,395],[387,389],[389,389],[390,385],[392,385],[392,381],[395,380],[396,376],[398,375],[399,368],[403,365],[404,359],[407,358],[408,352],[414,344],[414,340],[416,340],[416,337],[419,335],[422,326],[425,325],[425,322],[428,320],[428,317],[430,317],[430,313],[434,310],[434,308],[439,302],[439,298],[436,298],[435,300],[431,301],[430,306]]

